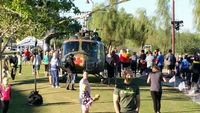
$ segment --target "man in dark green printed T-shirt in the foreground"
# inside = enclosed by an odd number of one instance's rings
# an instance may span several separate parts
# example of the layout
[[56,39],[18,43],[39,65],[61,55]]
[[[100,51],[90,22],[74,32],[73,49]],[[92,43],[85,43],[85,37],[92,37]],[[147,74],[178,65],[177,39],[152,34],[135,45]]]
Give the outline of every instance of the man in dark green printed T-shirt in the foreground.
[[116,85],[113,102],[116,113],[138,113],[140,108],[139,87],[133,83],[133,72],[130,69],[122,72],[124,82]]

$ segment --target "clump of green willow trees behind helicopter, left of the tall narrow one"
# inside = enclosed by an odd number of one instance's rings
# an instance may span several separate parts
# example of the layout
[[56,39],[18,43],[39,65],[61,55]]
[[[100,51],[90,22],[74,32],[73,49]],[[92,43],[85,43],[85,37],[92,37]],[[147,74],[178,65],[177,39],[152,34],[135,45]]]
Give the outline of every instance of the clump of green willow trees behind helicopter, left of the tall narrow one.
[[[105,6],[99,5],[97,9],[102,7]],[[100,35],[107,44],[112,42],[115,46],[127,46],[128,40],[137,46],[144,46],[152,28],[145,10],[138,11],[138,14],[136,18],[127,14],[124,9],[118,11],[115,7],[110,7],[103,12],[95,12],[89,20],[89,26],[93,29],[100,28]]]

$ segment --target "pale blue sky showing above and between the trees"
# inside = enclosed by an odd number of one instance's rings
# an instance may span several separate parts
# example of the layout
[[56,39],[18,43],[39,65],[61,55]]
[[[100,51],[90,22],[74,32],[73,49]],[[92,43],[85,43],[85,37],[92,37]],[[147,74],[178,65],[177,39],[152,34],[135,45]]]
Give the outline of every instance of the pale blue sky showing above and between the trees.
[[[92,0],[93,3],[107,3],[108,0]],[[124,8],[127,13],[135,15],[136,10],[139,8],[146,9],[148,16],[156,15],[156,1],[157,0],[130,0],[118,5],[118,8]],[[75,0],[75,5],[79,7],[81,11],[91,11],[93,4],[87,4],[86,0]],[[172,3],[172,2],[170,2]],[[171,6],[170,6],[171,9]],[[175,19],[183,20],[184,26],[180,31],[195,32],[193,21],[193,3],[192,0],[175,0]]]

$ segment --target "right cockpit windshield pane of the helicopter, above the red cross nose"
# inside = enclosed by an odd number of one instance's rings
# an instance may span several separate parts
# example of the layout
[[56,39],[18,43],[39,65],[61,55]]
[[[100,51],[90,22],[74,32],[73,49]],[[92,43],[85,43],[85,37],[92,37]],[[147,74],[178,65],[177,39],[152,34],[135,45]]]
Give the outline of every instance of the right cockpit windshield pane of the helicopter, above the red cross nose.
[[82,42],[82,49],[91,56],[97,56],[98,46],[95,42]]

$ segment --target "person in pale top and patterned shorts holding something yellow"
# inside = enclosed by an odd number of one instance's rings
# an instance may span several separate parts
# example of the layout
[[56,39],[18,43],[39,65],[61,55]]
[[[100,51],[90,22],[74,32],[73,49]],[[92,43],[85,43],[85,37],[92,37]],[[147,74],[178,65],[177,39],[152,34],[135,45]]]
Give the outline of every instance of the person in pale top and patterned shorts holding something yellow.
[[88,81],[87,71],[83,71],[83,78],[79,82],[80,89],[80,103],[81,103],[81,113],[89,113],[89,108],[91,104],[98,100],[100,95],[96,94],[95,97],[90,96],[90,83]]

